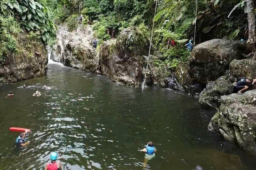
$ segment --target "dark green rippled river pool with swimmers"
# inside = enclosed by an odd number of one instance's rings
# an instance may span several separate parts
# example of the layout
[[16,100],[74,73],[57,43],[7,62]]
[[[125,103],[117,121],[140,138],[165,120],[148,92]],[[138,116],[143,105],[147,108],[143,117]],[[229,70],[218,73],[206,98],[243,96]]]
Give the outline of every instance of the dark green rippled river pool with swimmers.
[[[26,84],[27,90],[21,86]],[[46,85],[46,87],[44,87]],[[39,90],[40,97],[32,94]],[[13,98],[6,98],[8,91]],[[48,65],[45,77],[0,86],[0,169],[43,169],[56,151],[63,169],[255,169],[255,156],[207,132],[213,112],[185,93],[118,85],[82,70]],[[10,127],[30,128],[15,146]]]

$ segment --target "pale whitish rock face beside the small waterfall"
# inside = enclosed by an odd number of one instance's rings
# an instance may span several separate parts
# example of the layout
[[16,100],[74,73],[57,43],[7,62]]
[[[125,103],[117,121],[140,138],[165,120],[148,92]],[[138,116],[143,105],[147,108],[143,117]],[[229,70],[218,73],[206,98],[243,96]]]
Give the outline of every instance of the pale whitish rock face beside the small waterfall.
[[57,43],[51,59],[65,66],[96,72],[99,58],[92,48],[93,30],[91,26],[78,26],[69,32],[67,26],[59,26],[56,33]]

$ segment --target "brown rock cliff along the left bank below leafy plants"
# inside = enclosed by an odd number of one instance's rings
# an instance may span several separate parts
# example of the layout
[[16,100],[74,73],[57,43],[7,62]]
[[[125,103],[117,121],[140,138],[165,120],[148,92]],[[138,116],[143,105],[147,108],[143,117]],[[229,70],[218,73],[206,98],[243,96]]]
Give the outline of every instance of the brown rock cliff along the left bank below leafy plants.
[[48,62],[45,44],[38,39],[26,43],[31,48],[24,47],[21,54],[9,53],[0,66],[0,83],[17,82],[45,75]]

